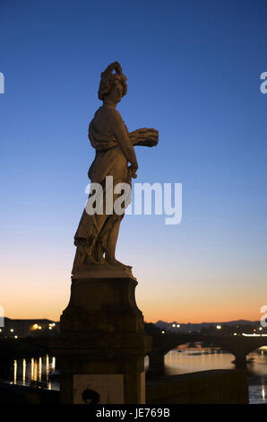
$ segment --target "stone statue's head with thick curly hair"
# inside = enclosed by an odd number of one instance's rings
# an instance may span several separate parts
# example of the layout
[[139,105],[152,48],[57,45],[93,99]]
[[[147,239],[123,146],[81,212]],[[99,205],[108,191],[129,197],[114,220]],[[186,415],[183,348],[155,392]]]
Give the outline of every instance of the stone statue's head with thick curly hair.
[[108,98],[113,102],[121,101],[126,95],[126,76],[118,62],[111,63],[107,69],[101,73],[99,84],[99,100],[105,101]]

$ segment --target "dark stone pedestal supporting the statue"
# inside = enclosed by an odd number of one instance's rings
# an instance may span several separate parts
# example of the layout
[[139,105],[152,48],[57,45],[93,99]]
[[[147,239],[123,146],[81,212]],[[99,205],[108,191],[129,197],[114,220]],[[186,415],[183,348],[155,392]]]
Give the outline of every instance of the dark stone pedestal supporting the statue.
[[51,338],[61,402],[145,403],[143,360],[151,338],[143,331],[131,268],[82,266],[72,280],[60,336]]

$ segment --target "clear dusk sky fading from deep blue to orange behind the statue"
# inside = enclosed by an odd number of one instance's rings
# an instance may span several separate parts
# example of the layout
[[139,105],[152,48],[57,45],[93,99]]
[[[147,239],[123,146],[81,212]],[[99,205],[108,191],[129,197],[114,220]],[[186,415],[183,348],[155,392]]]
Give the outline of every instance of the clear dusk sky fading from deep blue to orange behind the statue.
[[180,224],[125,215],[116,258],[145,321],[259,320],[267,304],[267,2],[1,0],[1,291],[9,318],[58,320],[94,150],[99,78],[127,76],[117,109],[136,182],[182,183]]

